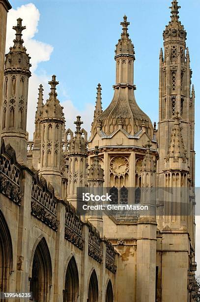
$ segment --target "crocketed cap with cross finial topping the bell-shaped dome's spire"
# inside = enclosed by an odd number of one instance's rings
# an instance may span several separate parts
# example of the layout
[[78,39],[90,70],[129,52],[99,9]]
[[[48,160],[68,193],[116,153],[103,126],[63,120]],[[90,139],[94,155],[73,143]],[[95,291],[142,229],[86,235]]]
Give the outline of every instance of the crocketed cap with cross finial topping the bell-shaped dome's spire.
[[[115,59],[119,55],[127,55],[129,54],[130,56],[134,57],[135,51],[134,51],[134,45],[129,38],[128,34],[128,25],[130,23],[127,22],[127,17],[124,15],[124,21],[120,23],[122,26],[122,33],[121,33],[121,38],[118,40],[118,43],[116,44],[116,50],[115,50]],[[135,59],[135,57],[134,57]]]

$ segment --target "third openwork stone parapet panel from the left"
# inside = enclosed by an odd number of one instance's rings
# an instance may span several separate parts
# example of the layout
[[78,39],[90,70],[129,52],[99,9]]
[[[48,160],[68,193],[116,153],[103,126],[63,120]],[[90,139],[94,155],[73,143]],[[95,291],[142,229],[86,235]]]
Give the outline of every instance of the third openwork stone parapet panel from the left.
[[83,250],[84,241],[82,239],[82,226],[80,215],[77,213],[75,208],[70,205],[67,201],[66,212],[65,212],[65,232],[64,237],[79,249]]

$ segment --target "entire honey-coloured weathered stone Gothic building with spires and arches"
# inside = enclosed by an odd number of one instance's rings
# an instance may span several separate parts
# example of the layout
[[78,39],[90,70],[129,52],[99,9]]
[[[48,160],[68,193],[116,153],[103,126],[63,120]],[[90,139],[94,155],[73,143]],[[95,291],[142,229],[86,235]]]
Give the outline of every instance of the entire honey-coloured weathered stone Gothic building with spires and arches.
[[[0,0],[0,58],[9,8]],[[158,129],[136,103],[135,51],[124,16],[114,98],[103,111],[98,84],[89,139],[80,116],[75,133],[65,130],[54,75],[46,103],[39,87],[28,141],[30,58],[17,20],[4,89],[0,64],[0,291],[32,292],[35,302],[195,301],[195,91],[178,9],[173,0],[160,51]],[[80,187],[110,188],[113,204],[149,210],[84,219]]]

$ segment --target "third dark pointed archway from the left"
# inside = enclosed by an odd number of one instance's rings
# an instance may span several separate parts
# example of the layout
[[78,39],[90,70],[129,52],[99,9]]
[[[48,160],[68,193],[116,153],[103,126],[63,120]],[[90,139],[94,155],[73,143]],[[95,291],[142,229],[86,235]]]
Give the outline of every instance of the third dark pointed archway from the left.
[[63,302],[77,302],[79,297],[79,273],[74,256],[67,265]]

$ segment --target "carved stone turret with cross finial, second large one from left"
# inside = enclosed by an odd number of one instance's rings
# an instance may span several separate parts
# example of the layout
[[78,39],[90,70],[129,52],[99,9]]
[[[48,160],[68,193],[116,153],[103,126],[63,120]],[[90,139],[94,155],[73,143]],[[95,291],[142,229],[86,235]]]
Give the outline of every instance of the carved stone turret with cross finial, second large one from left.
[[[55,195],[61,197],[61,139],[62,127],[64,123],[64,113],[62,112],[58,99],[56,86],[59,82],[56,81],[56,76],[52,76],[49,82],[51,92],[49,99],[42,108],[40,123],[42,129],[41,135],[41,164],[40,174],[49,182],[55,189]],[[41,93],[41,92],[40,92]],[[40,95],[39,102],[42,102]]]

